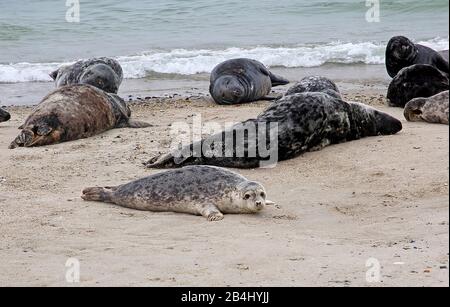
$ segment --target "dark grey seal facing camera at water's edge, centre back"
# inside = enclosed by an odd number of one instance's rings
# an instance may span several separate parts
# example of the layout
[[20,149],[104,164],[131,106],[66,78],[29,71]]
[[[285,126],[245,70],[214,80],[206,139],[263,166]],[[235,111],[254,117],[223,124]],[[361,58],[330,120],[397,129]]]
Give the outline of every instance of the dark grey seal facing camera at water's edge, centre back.
[[241,104],[261,99],[274,100],[266,97],[272,87],[288,83],[258,61],[234,59],[214,68],[209,92],[217,104]]

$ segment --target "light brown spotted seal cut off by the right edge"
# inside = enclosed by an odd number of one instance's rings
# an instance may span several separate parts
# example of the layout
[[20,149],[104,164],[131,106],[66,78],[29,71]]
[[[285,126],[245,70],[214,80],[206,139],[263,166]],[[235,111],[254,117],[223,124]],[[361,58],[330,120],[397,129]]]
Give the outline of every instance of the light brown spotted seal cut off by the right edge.
[[448,91],[429,98],[415,98],[405,106],[405,118],[410,122],[448,125]]

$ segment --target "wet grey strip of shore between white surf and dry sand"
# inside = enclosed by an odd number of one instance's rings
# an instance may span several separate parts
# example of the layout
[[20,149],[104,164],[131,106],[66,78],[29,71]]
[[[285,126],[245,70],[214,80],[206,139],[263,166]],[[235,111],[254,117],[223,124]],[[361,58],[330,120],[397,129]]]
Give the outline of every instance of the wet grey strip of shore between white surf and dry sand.
[[[275,94],[281,94],[296,81],[310,75],[322,75],[334,80],[343,92],[356,91],[361,86],[383,89],[389,84],[383,65],[337,65],[327,64],[312,68],[273,68],[274,73],[285,76],[291,84],[275,87]],[[208,96],[209,74],[191,76],[154,75],[145,79],[125,79],[119,91],[126,101],[142,101],[146,98],[196,98]],[[0,106],[37,105],[54,89],[52,82],[0,83]]]

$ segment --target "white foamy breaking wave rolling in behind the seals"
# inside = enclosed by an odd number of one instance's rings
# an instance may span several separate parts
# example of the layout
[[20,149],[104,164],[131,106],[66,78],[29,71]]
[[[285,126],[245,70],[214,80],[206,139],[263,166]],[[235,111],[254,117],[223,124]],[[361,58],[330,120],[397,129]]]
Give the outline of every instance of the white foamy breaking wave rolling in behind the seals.
[[[420,41],[436,50],[449,48],[449,39]],[[269,67],[318,67],[335,64],[383,64],[385,43],[334,42],[294,47],[228,48],[226,50],[151,51],[141,55],[117,57],[128,79],[144,78],[149,73],[194,75],[209,73],[218,64],[232,58],[252,58]],[[49,73],[70,63],[0,64],[1,83],[48,82]]]

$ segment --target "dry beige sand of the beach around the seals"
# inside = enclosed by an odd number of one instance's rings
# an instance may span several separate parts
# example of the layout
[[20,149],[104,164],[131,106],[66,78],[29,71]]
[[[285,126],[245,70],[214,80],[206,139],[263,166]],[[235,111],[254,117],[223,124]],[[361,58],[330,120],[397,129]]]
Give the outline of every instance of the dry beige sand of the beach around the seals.
[[[364,96],[356,92],[363,92]],[[348,97],[386,108],[383,92]],[[159,101],[159,100],[158,100]],[[142,162],[170,144],[170,124],[201,113],[237,121],[267,103],[215,106],[152,100],[134,117],[155,124],[54,146],[8,150],[31,111],[0,124],[0,286],[448,286],[448,126],[407,123],[395,136],[330,146],[274,169],[238,170],[261,181],[277,207],[260,215],[202,217],[84,202],[86,186],[156,171]],[[366,281],[366,261],[381,282]]]

